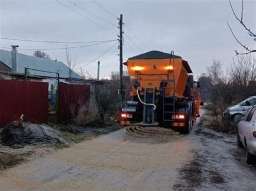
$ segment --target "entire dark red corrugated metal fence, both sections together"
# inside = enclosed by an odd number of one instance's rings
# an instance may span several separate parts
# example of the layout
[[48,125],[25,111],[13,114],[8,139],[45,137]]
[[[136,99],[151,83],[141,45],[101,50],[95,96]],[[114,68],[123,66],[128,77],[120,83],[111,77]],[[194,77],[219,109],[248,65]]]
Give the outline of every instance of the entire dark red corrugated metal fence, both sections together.
[[[59,84],[58,121],[72,119],[80,107],[87,107],[90,86]],[[48,83],[0,80],[0,128],[24,114],[24,121],[48,121]]]

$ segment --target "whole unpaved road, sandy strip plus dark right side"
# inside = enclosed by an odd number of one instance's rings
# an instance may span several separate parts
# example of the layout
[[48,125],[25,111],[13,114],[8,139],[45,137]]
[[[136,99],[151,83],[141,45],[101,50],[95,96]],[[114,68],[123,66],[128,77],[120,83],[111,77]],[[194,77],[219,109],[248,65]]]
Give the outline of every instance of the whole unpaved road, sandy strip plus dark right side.
[[256,168],[234,136],[194,126],[166,141],[125,130],[85,141],[0,174],[1,190],[252,190]]

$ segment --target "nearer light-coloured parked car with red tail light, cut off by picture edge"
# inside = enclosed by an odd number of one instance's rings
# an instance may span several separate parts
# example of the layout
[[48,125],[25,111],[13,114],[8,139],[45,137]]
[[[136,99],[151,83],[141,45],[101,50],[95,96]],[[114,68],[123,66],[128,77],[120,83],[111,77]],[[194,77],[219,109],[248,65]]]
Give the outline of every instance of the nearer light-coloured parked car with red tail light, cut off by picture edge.
[[256,162],[256,105],[238,123],[237,143],[246,149],[247,163]]

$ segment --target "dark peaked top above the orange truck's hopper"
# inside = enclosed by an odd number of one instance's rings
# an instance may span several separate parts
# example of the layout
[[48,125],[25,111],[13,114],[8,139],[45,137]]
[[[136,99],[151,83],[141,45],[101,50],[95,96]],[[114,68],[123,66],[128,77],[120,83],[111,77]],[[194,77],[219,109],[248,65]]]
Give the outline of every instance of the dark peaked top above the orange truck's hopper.
[[138,60],[138,59],[166,59],[166,58],[181,58],[180,56],[174,55],[172,57],[171,54],[160,52],[160,51],[150,51],[144,54],[139,54],[137,56],[133,56],[129,58],[129,60]]

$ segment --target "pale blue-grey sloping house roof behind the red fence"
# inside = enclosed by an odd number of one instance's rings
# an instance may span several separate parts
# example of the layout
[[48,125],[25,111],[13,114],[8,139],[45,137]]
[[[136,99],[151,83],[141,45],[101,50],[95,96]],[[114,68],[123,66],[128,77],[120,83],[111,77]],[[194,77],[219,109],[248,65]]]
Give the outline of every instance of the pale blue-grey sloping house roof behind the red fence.
[[[45,70],[48,72],[58,72],[60,77],[69,77],[69,67],[66,66],[61,61],[54,61],[45,58],[38,58],[35,56],[25,55],[18,53],[18,66],[17,66],[17,73],[24,73],[24,68],[32,68],[38,70]],[[11,68],[11,52],[4,51],[0,49],[0,61],[5,63],[8,67]],[[56,77],[56,74],[53,73],[46,73],[46,72],[39,72],[35,70],[29,70],[29,74],[31,75],[41,75],[41,76],[49,76],[49,77]],[[80,79],[81,77],[75,73],[73,70],[71,72],[71,77]]]

